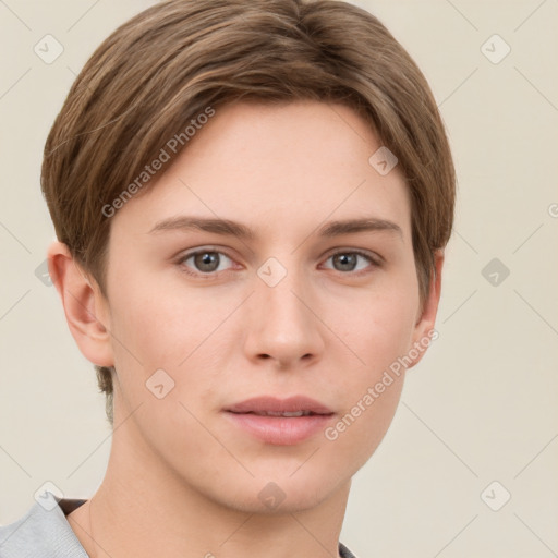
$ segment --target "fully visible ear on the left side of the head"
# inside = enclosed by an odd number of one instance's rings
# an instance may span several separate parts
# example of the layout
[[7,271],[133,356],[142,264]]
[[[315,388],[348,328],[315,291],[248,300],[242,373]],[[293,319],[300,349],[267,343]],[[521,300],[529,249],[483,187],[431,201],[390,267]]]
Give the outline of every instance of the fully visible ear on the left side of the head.
[[62,242],[53,242],[47,257],[50,278],[80,351],[93,364],[113,366],[109,306],[97,282],[85,274]]

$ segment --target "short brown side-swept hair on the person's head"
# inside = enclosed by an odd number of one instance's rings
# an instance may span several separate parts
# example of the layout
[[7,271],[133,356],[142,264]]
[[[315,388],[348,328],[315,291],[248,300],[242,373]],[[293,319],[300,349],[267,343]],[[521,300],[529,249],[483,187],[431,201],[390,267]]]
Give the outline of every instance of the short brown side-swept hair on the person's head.
[[[424,301],[434,253],[447,244],[453,221],[456,179],[444,124],[425,77],[386,27],[332,0],[163,1],[97,48],[47,138],[41,187],[58,239],[101,291],[110,232],[102,208],[192,119],[241,99],[342,102],[369,122],[409,186]],[[112,424],[114,371],[96,369]]]

